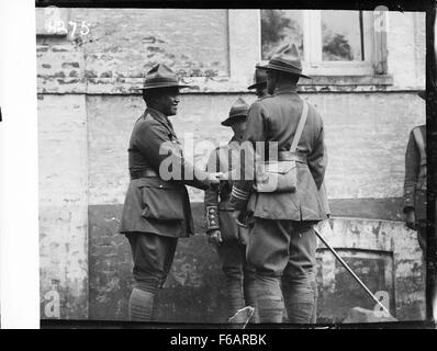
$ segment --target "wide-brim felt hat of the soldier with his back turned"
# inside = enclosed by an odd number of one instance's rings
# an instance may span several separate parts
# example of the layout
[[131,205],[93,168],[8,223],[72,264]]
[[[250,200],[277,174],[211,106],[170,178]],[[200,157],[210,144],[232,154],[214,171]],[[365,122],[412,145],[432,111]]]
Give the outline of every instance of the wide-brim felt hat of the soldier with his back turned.
[[302,61],[299,55],[298,47],[294,44],[288,44],[281,47],[276,53],[266,66],[265,69],[274,69],[287,73],[296,75],[303,78],[312,79],[302,73]]

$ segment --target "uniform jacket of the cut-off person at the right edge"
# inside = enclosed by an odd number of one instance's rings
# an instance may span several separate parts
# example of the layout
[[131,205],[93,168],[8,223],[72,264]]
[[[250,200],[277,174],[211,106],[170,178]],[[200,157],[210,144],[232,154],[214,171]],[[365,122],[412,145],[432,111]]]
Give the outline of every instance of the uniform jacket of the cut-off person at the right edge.
[[426,219],[425,125],[411,131],[405,152],[404,212],[408,208],[415,211],[416,220]]

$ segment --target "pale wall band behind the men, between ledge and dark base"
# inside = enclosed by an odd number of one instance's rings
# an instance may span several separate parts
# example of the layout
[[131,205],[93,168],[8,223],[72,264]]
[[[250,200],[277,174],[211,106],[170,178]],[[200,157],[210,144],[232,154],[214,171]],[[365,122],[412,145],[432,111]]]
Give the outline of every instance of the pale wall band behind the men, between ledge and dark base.
[[[178,135],[201,141],[226,143],[232,131],[220,124],[233,102],[250,94],[183,94],[171,117]],[[321,112],[329,166],[330,199],[396,197],[402,195],[404,156],[413,126],[425,122],[425,103],[415,92],[302,93]],[[126,149],[132,127],[144,111],[141,97],[87,98],[90,204],[122,203],[128,182]],[[104,133],[102,133],[104,131]],[[195,149],[198,148],[198,149]],[[202,192],[192,190],[192,201]]]

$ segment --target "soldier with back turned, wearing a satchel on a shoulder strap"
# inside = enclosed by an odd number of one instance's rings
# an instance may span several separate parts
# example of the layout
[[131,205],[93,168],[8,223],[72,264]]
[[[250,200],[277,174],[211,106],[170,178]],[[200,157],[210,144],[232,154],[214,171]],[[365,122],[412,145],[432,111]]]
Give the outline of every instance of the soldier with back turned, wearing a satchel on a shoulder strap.
[[[247,260],[256,268],[259,321],[281,322],[285,307],[290,322],[314,322],[314,225],[326,219],[320,195],[327,162],[323,122],[317,111],[305,105],[296,93],[299,78],[310,77],[302,73],[295,45],[281,48],[266,69],[271,95],[254,102],[249,109],[242,149],[251,157],[242,157],[240,174],[245,178],[234,181],[229,203],[236,210],[234,215],[246,216],[249,225]],[[298,124],[304,115],[306,122],[296,150],[291,154]],[[276,141],[279,152],[273,157],[296,161],[294,192],[254,190],[258,141],[265,141],[265,155],[269,155],[269,141]]]

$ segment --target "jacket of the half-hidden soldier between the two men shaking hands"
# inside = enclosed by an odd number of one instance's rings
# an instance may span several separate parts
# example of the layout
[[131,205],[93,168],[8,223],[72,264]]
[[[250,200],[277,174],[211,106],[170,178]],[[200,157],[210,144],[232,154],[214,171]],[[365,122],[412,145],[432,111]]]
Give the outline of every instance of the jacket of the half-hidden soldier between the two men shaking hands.
[[[239,144],[232,138],[229,144],[216,148],[210,155],[206,170],[209,172],[229,172],[237,165]],[[206,218],[206,233],[220,229],[223,238],[236,238],[238,226],[232,216],[233,208],[229,205],[232,180],[221,182],[218,188],[209,188],[205,191],[204,205]]]

